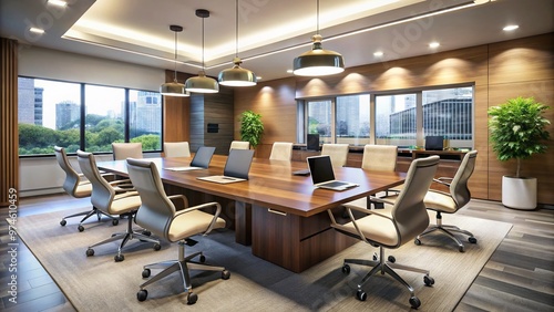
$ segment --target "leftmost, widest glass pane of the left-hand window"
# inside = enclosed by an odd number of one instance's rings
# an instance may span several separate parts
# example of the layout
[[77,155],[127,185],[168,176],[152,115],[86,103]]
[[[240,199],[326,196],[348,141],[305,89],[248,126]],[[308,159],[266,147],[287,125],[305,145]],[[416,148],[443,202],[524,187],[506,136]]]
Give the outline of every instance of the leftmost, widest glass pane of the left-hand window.
[[78,83],[18,79],[19,155],[53,154],[54,145],[80,148],[81,86]]

